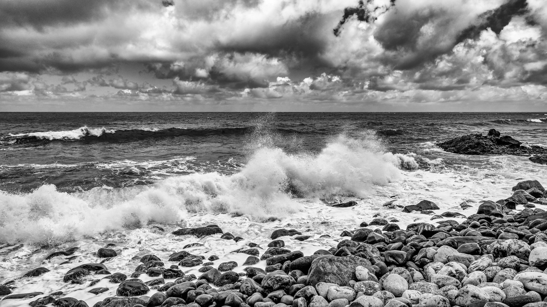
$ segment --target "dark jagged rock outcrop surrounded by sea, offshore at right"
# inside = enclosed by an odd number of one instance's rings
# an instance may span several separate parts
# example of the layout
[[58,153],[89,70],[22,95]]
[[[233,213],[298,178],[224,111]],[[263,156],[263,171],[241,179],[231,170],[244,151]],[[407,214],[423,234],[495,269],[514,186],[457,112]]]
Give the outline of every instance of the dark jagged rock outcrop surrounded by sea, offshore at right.
[[439,142],[437,145],[454,154],[531,156],[530,161],[547,164],[547,149],[537,145],[523,145],[509,135],[501,136],[496,129],[490,129],[487,135],[468,134]]

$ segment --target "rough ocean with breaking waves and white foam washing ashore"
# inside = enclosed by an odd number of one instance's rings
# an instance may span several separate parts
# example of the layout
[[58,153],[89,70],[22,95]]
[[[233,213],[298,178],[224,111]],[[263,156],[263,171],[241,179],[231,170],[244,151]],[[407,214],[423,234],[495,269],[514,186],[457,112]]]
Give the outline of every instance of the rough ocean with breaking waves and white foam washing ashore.
[[[62,276],[101,261],[96,251],[107,244],[119,252],[105,263],[112,273],[129,276],[135,256],[164,259],[190,243],[203,244],[195,255],[236,261],[242,271],[248,255],[232,251],[266,247],[275,229],[310,235],[286,246],[311,255],[375,216],[403,229],[433,223],[383,206],[392,200],[427,199],[438,213],[468,216],[481,200],[509,197],[518,181],[547,184],[547,166],[527,157],[464,156],[435,145],[491,128],[547,144],[541,113],[0,113],[0,284],[15,280],[14,293],[61,290],[91,306],[115,287],[95,296]],[[329,206],[348,200],[358,205]],[[473,206],[463,210],[462,202]],[[245,240],[169,234],[210,224]],[[71,247],[78,257],[45,260]],[[21,278],[36,267],[51,271]]]

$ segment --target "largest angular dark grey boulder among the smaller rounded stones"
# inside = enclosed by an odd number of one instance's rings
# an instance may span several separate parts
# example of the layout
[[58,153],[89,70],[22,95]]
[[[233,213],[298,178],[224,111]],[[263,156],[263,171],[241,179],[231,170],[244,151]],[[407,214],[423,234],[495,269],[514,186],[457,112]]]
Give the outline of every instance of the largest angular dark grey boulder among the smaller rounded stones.
[[308,272],[308,285],[315,287],[318,282],[331,282],[340,286],[347,286],[350,280],[356,279],[355,269],[359,265],[369,271],[372,270],[370,261],[353,255],[318,257],[311,263]]

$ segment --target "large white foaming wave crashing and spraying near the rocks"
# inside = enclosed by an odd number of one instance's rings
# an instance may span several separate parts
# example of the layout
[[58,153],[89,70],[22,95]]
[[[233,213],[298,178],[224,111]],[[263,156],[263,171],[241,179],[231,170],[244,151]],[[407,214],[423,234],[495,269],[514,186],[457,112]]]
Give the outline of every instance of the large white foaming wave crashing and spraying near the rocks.
[[400,179],[414,158],[385,152],[370,135],[339,135],[317,154],[255,150],[239,172],[172,176],[152,185],[96,187],[65,193],[43,185],[32,193],[0,192],[0,241],[55,245],[148,223],[176,223],[195,212],[265,220],[302,209],[301,199],[368,197]]

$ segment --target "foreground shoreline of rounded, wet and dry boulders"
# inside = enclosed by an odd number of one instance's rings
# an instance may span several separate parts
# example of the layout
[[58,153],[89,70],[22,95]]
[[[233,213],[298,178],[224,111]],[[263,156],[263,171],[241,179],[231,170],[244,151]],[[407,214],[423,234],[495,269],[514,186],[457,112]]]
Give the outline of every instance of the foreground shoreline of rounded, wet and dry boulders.
[[[285,246],[286,240],[304,242],[309,235],[277,229],[264,248],[248,243],[232,251],[246,257],[242,263],[193,255],[186,249],[203,244],[192,243],[164,259],[135,256],[139,264],[127,276],[112,274],[104,264],[119,257],[114,244],[108,244],[96,252],[101,263],[78,265],[60,279],[83,286],[90,296],[115,288],[115,296],[94,307],[547,307],[547,212],[536,208],[547,204],[547,193],[536,180],[521,181],[513,191],[507,199],[482,202],[467,217],[451,211],[438,215],[439,207],[428,200],[407,205],[403,212],[420,212],[431,216],[431,222],[411,223],[403,230],[397,220],[376,217],[342,232],[336,247],[310,255]],[[348,202],[339,208],[353,205]],[[517,205],[525,209],[516,211]],[[393,202],[384,206],[400,209]],[[470,208],[468,202],[460,207]],[[445,220],[451,218],[465,220]],[[218,225],[171,234],[245,240]],[[76,250],[56,251],[45,259],[70,259]],[[237,273],[234,269],[239,266],[245,268]],[[200,274],[188,274],[190,269]],[[38,267],[24,276],[36,278],[49,271]],[[17,293],[14,283],[0,285],[2,303],[28,300],[32,307],[90,306],[63,291]]]

